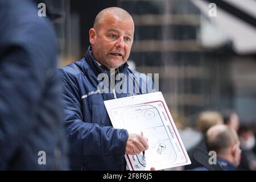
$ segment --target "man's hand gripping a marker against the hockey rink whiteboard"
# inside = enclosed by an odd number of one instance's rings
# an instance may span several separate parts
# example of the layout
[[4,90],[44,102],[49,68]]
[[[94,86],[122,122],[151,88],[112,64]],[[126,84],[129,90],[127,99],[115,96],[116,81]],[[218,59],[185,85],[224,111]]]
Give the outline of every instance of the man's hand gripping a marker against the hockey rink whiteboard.
[[129,134],[125,152],[129,155],[136,155],[148,149],[147,138],[138,134]]

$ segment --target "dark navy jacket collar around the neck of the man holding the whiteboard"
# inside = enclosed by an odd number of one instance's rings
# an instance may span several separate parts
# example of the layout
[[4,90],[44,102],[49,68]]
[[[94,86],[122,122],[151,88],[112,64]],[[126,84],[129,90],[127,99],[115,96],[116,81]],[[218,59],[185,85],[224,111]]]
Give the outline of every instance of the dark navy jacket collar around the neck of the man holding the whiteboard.
[[[107,73],[108,75],[110,75],[109,69],[106,68],[104,65],[98,64],[98,62],[94,59],[92,55],[92,46],[89,46],[88,50],[85,53],[84,59],[85,61],[87,61],[87,63],[90,65],[90,67],[93,69],[94,73],[96,73],[97,76],[100,73]],[[129,65],[127,64],[127,62],[125,62],[125,64],[117,68],[117,72],[125,73],[128,67]]]

